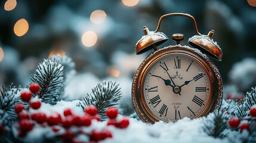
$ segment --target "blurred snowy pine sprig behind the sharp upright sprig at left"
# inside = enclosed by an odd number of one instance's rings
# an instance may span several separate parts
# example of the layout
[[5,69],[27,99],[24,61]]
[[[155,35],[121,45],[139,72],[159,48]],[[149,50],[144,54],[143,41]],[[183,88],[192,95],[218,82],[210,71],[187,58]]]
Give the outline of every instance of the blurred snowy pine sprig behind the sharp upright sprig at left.
[[60,89],[61,93],[58,100],[64,100],[64,86],[67,85],[67,82],[69,82],[70,78],[76,73],[75,63],[72,61],[72,58],[68,57],[67,55],[64,55],[63,57],[61,57],[60,54],[52,55],[50,59],[63,66],[63,87]]

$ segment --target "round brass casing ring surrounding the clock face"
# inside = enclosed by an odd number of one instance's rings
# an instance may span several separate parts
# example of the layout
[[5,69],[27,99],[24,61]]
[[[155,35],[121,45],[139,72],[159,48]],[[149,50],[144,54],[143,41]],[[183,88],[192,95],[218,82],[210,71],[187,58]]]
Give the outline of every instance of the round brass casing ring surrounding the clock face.
[[159,122],[159,119],[154,114],[152,114],[146,105],[143,97],[143,84],[147,71],[149,71],[150,67],[152,67],[153,64],[155,64],[157,61],[169,55],[184,55],[186,57],[192,58],[201,64],[211,81],[209,101],[202,113],[199,114],[199,116],[196,118],[206,116],[208,113],[211,113],[215,109],[219,109],[223,99],[223,83],[217,67],[214,65],[214,63],[212,63],[211,60],[209,60],[208,57],[206,57],[206,55],[202,54],[200,51],[194,48],[190,48],[189,46],[175,45],[158,49],[158,51],[153,52],[140,64],[137,71],[135,72],[132,81],[132,103],[136,113],[138,114],[138,117],[140,117],[140,119],[146,123]]

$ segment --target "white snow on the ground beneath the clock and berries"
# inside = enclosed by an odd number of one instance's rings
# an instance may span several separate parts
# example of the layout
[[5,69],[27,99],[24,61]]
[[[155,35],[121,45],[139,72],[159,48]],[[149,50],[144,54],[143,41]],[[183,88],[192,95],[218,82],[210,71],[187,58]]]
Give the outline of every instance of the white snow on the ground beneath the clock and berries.
[[[81,107],[78,107],[79,100],[74,101],[59,101],[56,105],[49,105],[42,103],[39,111],[43,111],[47,114],[57,111],[63,116],[63,111],[66,108],[72,108],[74,113],[78,115],[84,114]],[[223,102],[226,106],[226,102]],[[37,110],[30,110],[30,112],[37,112]],[[63,116],[64,117],[64,116]],[[178,120],[176,123],[164,123],[158,122],[154,125],[149,125],[138,121],[137,119],[130,118],[129,126],[126,129],[118,129],[114,126],[106,126],[107,122],[92,122],[92,125],[88,128],[84,128],[85,132],[91,132],[93,129],[109,129],[112,132],[113,138],[107,138],[104,143],[119,143],[119,142],[241,142],[241,136],[246,136],[248,132],[236,132],[229,129],[224,130],[227,133],[227,138],[220,139],[214,138],[207,135],[203,126],[205,123],[212,119],[213,113],[210,113],[207,117],[200,117],[198,119],[190,120],[185,117],[184,119]],[[122,116],[118,116],[118,120],[122,119]],[[73,129],[75,130],[75,128]],[[63,133],[64,129],[61,129],[57,134]],[[245,134],[245,135],[242,135]],[[56,135],[51,128],[42,128],[41,126],[36,126],[32,131],[30,131],[24,140],[26,142],[41,142],[42,136],[54,136]],[[88,141],[87,136],[78,136],[78,139],[86,142]]]

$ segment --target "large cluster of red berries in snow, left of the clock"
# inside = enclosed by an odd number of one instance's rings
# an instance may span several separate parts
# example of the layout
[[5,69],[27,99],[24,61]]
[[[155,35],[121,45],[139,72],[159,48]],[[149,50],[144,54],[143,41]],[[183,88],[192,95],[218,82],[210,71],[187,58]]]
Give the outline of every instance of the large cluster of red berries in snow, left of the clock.
[[[36,86],[33,85],[33,87]],[[40,88],[36,89],[39,91]],[[30,91],[21,92],[21,100],[29,102],[29,107],[33,108],[34,110],[37,110],[41,107],[41,101],[30,100],[32,95],[31,92],[35,94],[38,91],[31,88]],[[42,127],[51,126],[53,132],[61,135],[61,138],[64,142],[81,142],[76,139],[76,136],[81,134],[88,136],[88,138],[90,138],[90,142],[98,142],[106,138],[112,138],[112,133],[107,128],[103,130],[93,129],[90,133],[83,132],[83,128],[91,126],[92,120],[95,120],[96,122],[100,121],[97,108],[95,108],[94,105],[88,106],[85,109],[85,114],[82,116],[73,113],[71,108],[66,108],[63,111],[63,117],[61,117],[61,115],[57,112],[53,112],[48,116],[42,111],[29,114],[29,107],[25,109],[24,105],[19,103],[14,108],[14,110],[18,114],[18,119],[20,121],[19,136],[21,137],[25,136],[26,133],[30,130],[33,130],[35,125],[39,125]],[[116,110],[115,107],[108,108],[106,111],[106,116],[109,118],[107,126],[114,125],[116,128],[122,129],[127,128],[129,125],[129,120],[127,117],[124,117],[118,122],[118,120],[116,119],[116,117],[118,116],[118,110]],[[72,130],[73,127],[78,128],[78,130],[75,132],[74,130]],[[61,129],[64,129],[63,133],[59,132]],[[1,130],[3,129],[0,125],[0,133]]]

